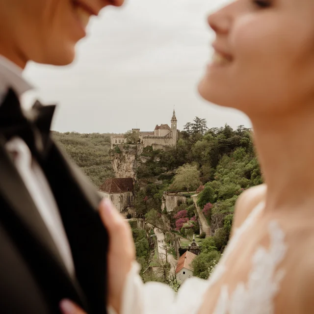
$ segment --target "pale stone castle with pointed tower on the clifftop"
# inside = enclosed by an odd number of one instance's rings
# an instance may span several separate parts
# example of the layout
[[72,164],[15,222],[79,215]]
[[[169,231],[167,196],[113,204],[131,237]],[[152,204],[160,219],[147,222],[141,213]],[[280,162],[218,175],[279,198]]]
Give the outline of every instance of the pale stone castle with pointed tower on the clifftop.
[[[176,147],[178,141],[177,118],[175,110],[171,118],[171,128],[168,124],[157,125],[154,131],[140,131],[140,129],[132,129],[138,132],[139,142],[137,144],[143,147],[152,146],[153,149],[164,149],[165,147]],[[111,134],[111,149],[115,145],[123,145],[127,143],[124,134]]]

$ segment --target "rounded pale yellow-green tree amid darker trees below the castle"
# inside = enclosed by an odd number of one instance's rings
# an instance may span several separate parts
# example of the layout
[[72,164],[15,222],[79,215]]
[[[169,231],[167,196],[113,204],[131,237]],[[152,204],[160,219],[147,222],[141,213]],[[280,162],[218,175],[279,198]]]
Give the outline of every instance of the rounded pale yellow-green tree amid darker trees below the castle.
[[175,179],[170,185],[170,189],[178,191],[186,189],[186,191],[189,192],[196,190],[200,185],[200,172],[197,166],[186,163],[176,171]]

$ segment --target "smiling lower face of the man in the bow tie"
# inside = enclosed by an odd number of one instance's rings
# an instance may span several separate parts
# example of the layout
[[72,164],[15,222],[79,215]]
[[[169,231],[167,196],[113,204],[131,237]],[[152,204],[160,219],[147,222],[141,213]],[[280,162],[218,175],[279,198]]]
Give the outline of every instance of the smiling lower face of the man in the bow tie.
[[119,6],[123,1],[1,0],[0,41],[18,51],[25,62],[65,65],[73,61],[89,18],[106,5]]

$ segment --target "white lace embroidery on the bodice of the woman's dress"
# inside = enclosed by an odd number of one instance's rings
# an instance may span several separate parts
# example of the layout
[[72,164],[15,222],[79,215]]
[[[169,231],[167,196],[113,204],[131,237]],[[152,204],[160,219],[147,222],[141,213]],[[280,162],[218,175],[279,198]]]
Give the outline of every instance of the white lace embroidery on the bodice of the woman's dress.
[[[240,236],[254,222],[258,214],[264,208],[260,203],[244,221],[240,228],[235,231],[225,253],[209,279],[208,288],[216,283],[226,271],[225,262],[234,251]],[[279,290],[279,285],[285,272],[276,268],[285,257],[287,246],[284,242],[285,234],[276,221],[271,221],[268,226],[270,246],[260,246],[253,256],[253,267],[249,273],[248,282],[238,283],[235,291],[229,296],[228,287],[221,288],[219,298],[213,314],[272,314],[274,313],[272,300]]]

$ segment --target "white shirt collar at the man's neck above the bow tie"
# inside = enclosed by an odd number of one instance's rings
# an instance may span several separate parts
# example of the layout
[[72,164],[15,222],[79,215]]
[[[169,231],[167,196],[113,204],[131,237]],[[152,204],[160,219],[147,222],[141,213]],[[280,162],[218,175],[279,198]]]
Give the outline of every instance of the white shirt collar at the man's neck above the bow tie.
[[0,55],[0,104],[9,88],[20,97],[33,87],[23,78],[20,67]]

